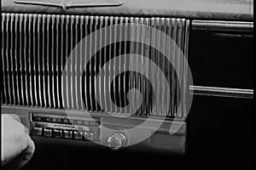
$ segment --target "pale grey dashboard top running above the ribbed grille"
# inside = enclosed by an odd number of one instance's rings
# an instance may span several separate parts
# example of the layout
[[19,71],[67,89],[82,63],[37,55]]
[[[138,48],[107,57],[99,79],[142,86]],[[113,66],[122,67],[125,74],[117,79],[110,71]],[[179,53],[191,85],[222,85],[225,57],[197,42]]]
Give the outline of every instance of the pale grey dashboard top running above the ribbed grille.
[[2,0],[3,12],[172,16],[211,20],[253,20],[253,0],[123,0],[118,7],[67,8]]

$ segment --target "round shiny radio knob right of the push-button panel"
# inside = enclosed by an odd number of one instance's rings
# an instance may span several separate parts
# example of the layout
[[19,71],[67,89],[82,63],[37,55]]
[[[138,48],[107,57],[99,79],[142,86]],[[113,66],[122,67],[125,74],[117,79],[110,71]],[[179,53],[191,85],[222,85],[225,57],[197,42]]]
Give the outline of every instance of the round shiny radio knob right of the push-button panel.
[[125,146],[127,139],[123,133],[113,133],[107,140],[108,147],[113,150],[118,150],[120,147]]

